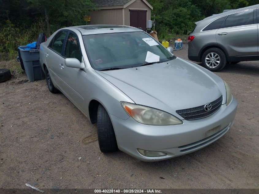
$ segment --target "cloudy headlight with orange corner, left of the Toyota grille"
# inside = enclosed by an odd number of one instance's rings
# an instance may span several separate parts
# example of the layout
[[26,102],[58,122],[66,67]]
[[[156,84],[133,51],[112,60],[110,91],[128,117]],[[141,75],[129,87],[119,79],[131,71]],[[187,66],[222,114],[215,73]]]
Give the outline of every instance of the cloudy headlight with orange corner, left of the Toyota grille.
[[170,115],[167,112],[150,108],[147,106],[141,106],[131,104],[127,102],[121,102],[122,107],[135,121],[146,125],[177,125],[183,122],[177,117]]

